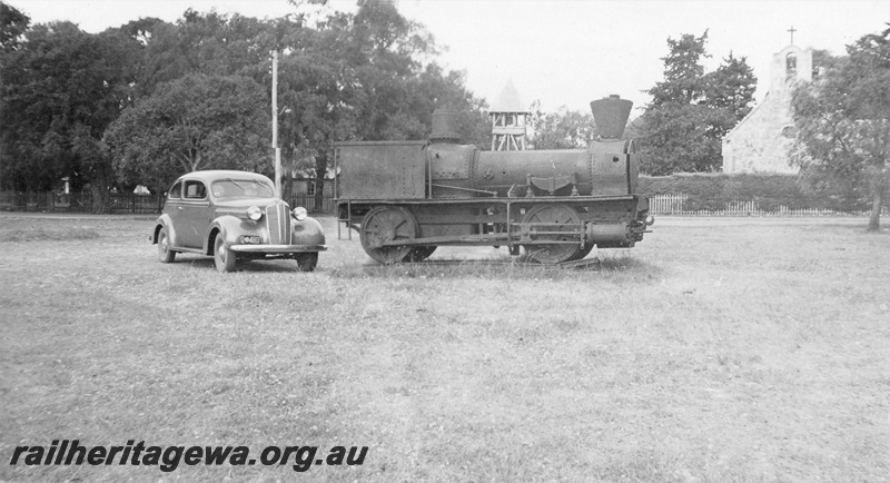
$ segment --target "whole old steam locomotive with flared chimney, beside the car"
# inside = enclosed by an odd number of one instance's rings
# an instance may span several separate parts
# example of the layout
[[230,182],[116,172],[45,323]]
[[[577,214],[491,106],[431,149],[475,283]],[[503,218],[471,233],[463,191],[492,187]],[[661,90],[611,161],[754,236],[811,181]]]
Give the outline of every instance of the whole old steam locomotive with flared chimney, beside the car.
[[600,139],[587,149],[482,151],[461,145],[448,112],[428,141],[339,142],[339,221],[383,264],[418,262],[437,246],[507,247],[544,264],[643,239],[649,201],[637,193],[632,102],[591,102]]

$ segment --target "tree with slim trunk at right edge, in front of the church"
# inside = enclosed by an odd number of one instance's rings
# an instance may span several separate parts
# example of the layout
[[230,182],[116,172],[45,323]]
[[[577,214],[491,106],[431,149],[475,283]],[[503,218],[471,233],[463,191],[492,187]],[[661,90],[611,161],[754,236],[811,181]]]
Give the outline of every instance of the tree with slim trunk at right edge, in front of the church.
[[794,89],[791,161],[812,180],[868,187],[868,230],[877,231],[890,185],[890,28],[863,36],[847,53]]

